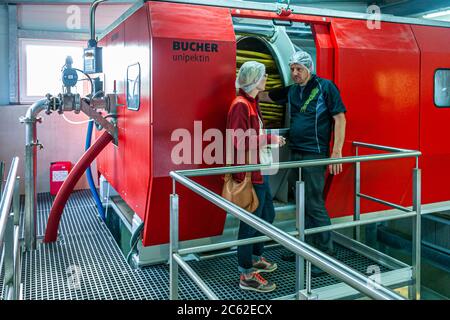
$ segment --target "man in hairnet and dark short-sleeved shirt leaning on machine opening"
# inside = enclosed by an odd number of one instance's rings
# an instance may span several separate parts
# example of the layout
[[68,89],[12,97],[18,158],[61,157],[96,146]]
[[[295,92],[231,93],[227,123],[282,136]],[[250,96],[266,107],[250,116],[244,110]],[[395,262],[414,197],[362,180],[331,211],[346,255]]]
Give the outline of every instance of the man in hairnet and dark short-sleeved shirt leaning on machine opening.
[[[291,77],[294,84],[286,88],[273,89],[260,94],[260,99],[278,104],[288,104],[290,110],[289,142],[291,160],[315,160],[341,158],[345,139],[345,106],[337,87],[330,80],[322,79],[314,73],[311,55],[305,51],[295,52],[289,59]],[[331,134],[334,133],[333,148],[330,153]],[[342,172],[342,164],[330,165],[331,174]],[[305,182],[305,228],[330,225],[330,217],[325,208],[323,191],[325,167],[302,168]],[[295,188],[298,170],[289,179],[290,189]],[[294,189],[295,190],[295,189]],[[327,254],[334,254],[330,232],[307,237],[307,241]],[[293,254],[284,256],[294,261]],[[322,271],[313,266],[314,274]]]

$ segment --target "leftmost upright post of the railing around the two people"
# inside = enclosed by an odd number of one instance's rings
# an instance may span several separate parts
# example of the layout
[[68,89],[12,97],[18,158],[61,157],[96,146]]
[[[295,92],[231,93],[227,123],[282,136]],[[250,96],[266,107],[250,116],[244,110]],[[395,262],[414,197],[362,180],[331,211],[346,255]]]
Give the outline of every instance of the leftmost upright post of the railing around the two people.
[[[173,182],[175,184],[175,180]],[[178,263],[174,259],[174,254],[178,253],[179,217],[178,217],[178,195],[170,195],[170,300],[178,300]]]

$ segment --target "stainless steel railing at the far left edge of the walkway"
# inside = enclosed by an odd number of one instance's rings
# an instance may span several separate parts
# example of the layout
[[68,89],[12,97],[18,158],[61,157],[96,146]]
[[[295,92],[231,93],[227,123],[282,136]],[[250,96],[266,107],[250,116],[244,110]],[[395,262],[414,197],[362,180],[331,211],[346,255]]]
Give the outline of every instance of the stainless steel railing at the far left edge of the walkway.
[[[20,295],[21,247],[19,242],[20,199],[17,168],[13,158],[0,201],[0,270],[4,270],[3,299],[17,300]],[[11,205],[13,212],[11,213]]]

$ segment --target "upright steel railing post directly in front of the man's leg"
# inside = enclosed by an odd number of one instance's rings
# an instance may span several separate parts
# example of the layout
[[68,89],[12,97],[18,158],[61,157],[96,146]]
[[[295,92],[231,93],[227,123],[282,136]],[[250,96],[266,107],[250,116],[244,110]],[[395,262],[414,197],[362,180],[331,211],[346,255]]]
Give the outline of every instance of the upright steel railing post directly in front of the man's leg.
[[[298,239],[305,241],[305,183],[302,181],[302,169],[299,168],[299,177],[295,188],[296,201],[296,227]],[[297,299],[302,299],[300,293],[305,288],[305,259],[298,254],[295,256],[296,279],[295,292]]]

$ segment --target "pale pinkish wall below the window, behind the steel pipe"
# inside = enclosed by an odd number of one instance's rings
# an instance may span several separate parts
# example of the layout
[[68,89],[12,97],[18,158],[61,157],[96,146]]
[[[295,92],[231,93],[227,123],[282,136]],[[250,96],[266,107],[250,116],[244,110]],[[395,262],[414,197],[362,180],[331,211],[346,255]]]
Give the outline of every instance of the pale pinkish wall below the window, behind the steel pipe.
[[[14,156],[20,157],[19,175],[21,177],[21,192],[24,192],[24,165],[25,165],[25,125],[19,122],[19,117],[24,116],[29,106],[11,105],[0,107],[0,161],[5,161],[7,170]],[[55,161],[71,161],[73,164],[84,153],[87,124],[73,125],[67,123],[57,113],[40,114],[42,123],[37,124],[37,136],[44,149],[39,150],[37,160],[36,191],[48,192],[50,190],[50,163]],[[65,113],[72,121],[83,121],[87,118],[74,113]],[[94,129],[95,130],[95,129]],[[95,138],[92,138],[92,142]],[[97,181],[97,169],[95,163],[92,166],[94,181]],[[80,179],[75,189],[87,189],[85,175]]]

